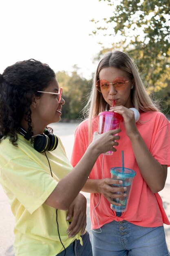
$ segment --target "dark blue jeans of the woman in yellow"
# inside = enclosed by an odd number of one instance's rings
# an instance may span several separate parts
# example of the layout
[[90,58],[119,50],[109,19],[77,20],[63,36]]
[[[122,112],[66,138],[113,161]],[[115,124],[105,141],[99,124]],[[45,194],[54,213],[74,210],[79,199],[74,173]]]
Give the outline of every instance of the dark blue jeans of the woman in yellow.
[[[80,245],[80,241],[76,239],[66,248],[66,256],[93,256],[88,232],[81,237],[83,240],[83,246]],[[57,254],[57,256],[64,256],[64,251]]]

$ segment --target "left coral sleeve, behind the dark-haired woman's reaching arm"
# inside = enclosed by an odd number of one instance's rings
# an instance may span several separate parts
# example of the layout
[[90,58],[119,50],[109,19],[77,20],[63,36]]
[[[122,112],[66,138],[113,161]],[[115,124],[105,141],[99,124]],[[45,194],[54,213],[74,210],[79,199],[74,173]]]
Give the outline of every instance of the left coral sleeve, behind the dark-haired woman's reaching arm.
[[75,130],[75,138],[71,155],[71,164],[73,167],[76,166],[86,151],[85,136],[84,129],[80,124]]

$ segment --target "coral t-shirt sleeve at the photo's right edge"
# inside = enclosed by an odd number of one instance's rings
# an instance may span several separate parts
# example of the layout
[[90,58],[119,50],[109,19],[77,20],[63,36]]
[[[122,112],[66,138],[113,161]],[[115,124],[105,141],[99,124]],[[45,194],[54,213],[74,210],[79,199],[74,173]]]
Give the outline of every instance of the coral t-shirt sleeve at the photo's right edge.
[[150,152],[160,164],[170,166],[170,122],[163,114],[155,123]]

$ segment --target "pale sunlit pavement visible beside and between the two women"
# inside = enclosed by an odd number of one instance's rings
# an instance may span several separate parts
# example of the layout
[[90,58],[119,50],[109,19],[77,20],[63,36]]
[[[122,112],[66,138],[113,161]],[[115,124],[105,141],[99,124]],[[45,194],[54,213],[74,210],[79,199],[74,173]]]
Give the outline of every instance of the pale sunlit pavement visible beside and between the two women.
[[[77,124],[65,124],[59,123],[57,125],[51,125],[55,133],[60,136],[63,145],[66,149],[68,158],[71,157],[71,150],[74,141],[74,130]],[[63,131],[64,134],[63,135]],[[166,181],[165,188],[159,192],[163,200],[163,206],[170,220],[170,168],[168,168],[168,177]],[[90,199],[89,193],[84,193],[87,198],[87,230],[91,228],[90,216],[89,216],[89,206]],[[7,201],[7,196],[4,194],[2,187],[0,186],[0,256],[14,256],[13,252],[13,227],[14,227],[14,217],[11,213],[9,203]],[[168,249],[170,250],[170,226],[164,225],[166,233],[166,241],[168,244]]]

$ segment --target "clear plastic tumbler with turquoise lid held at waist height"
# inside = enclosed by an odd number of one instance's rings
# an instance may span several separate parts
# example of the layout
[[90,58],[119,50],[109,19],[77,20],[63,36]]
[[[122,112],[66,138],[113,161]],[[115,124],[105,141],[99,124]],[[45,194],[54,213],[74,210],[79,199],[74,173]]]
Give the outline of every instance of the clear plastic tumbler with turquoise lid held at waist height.
[[[117,206],[114,204],[111,204],[111,209],[114,211],[118,212],[123,212],[127,210],[127,205],[128,205],[128,198],[130,197],[130,191],[131,191],[131,186],[133,182],[133,178],[136,175],[136,172],[132,169],[129,168],[124,168],[124,171],[122,171],[122,167],[114,167],[110,169],[111,173],[111,178],[113,180],[122,180],[122,184],[113,184],[112,186],[117,187],[117,186],[126,186],[127,191],[126,194],[127,196],[124,197],[122,193],[121,198],[112,198],[113,201],[120,203],[121,206]],[[115,192],[115,194],[120,194],[121,192]]]

